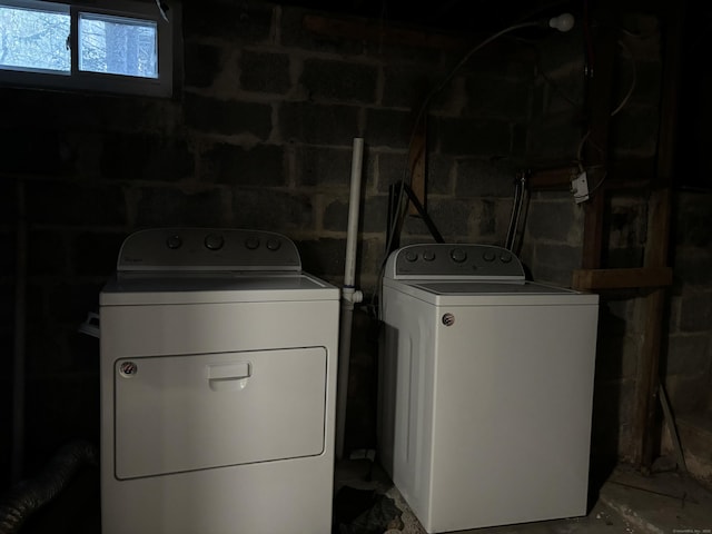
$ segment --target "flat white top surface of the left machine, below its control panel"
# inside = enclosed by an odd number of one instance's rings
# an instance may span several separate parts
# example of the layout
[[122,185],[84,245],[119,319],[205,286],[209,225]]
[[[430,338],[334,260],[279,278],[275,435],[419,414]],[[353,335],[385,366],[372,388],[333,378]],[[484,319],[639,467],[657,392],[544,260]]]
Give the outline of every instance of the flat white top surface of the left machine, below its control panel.
[[101,306],[337,300],[339,290],[299,274],[120,274],[99,296]]

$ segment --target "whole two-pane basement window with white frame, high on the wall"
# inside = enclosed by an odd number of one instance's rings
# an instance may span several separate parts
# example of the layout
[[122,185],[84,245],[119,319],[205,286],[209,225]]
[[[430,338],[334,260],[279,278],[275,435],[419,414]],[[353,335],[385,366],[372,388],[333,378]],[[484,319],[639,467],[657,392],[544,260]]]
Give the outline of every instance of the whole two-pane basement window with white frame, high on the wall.
[[0,83],[170,96],[175,14],[162,2],[0,0]]

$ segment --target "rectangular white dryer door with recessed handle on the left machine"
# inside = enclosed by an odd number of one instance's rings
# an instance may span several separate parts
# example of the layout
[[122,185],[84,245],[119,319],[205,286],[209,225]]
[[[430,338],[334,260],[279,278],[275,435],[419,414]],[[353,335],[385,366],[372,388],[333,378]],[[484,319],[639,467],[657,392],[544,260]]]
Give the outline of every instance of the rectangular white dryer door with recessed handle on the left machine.
[[324,347],[115,363],[115,471],[136,478],[319,455]]

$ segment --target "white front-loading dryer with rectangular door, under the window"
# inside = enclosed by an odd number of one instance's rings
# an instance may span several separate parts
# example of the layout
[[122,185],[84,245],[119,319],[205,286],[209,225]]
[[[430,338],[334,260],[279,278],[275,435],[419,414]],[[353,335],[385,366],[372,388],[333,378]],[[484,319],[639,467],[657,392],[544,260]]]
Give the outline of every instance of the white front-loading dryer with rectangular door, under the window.
[[329,533],[338,316],[278,234],[129,236],[100,295],[102,533]]

